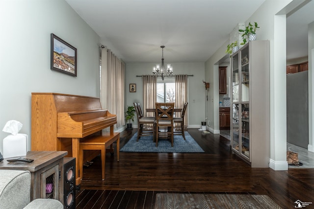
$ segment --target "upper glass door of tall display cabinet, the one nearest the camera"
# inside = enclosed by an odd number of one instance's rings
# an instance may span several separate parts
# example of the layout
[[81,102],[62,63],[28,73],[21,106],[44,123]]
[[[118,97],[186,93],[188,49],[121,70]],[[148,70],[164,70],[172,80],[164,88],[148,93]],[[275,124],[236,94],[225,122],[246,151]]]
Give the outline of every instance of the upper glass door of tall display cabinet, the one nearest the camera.
[[249,46],[241,50],[241,101],[249,101],[250,74],[249,74]]

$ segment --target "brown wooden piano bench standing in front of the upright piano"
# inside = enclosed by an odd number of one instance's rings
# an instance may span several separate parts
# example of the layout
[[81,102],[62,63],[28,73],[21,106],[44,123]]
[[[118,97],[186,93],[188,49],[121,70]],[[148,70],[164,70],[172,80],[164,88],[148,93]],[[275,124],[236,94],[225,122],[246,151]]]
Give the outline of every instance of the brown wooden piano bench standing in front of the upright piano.
[[110,152],[112,152],[112,143],[117,141],[117,160],[119,161],[120,149],[120,133],[104,133],[101,136],[93,136],[84,138],[79,141],[79,177],[83,178],[83,164],[84,164],[84,150],[101,150],[102,159],[102,179],[105,180],[105,158],[106,147],[110,145]]

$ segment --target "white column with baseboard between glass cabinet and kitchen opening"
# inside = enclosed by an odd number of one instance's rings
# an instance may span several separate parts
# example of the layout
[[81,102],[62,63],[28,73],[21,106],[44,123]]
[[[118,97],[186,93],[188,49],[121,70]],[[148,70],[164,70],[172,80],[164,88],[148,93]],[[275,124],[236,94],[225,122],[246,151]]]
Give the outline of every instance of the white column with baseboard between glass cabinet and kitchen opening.
[[[274,170],[288,170],[286,108],[286,15],[274,17],[274,56],[270,60],[270,163]],[[270,53],[271,54],[271,53]],[[272,65],[273,64],[273,65]]]

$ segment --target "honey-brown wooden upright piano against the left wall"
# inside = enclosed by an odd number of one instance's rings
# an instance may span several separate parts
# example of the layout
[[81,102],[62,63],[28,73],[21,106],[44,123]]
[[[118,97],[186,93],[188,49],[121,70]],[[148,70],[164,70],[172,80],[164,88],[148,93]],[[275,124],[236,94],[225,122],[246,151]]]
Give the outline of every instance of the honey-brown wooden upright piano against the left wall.
[[[99,98],[61,93],[32,93],[31,150],[68,151],[76,158],[76,185],[79,178],[79,140],[99,135],[117,123],[116,115],[102,109]],[[99,153],[91,151],[84,159],[91,160]]]

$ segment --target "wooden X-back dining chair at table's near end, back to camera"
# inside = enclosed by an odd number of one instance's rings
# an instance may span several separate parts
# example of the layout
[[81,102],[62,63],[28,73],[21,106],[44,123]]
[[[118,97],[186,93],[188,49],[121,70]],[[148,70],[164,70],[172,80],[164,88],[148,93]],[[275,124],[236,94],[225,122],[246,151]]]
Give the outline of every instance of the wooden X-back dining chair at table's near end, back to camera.
[[160,137],[170,137],[171,146],[173,146],[173,114],[175,103],[155,103],[156,113],[155,113],[155,139],[156,146],[158,146],[158,138]]

